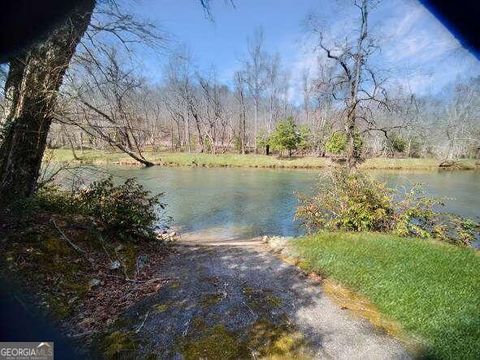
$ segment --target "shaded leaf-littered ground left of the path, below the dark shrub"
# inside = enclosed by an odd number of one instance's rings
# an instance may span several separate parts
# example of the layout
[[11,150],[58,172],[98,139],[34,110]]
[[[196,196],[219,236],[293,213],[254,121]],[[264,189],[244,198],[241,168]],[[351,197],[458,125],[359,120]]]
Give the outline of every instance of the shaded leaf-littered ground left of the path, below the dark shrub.
[[77,215],[0,220],[0,283],[14,299],[2,312],[39,318],[18,331],[55,326],[58,340],[88,352],[121,313],[168,282],[157,272],[171,251],[165,241],[119,241],[120,233],[107,237],[102,224]]

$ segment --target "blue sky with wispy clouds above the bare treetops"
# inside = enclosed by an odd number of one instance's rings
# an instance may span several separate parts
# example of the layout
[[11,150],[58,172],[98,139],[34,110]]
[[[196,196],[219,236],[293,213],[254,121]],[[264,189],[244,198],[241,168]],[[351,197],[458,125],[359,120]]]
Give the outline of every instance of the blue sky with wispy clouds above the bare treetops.
[[[262,28],[269,52],[278,52],[291,71],[292,93],[303,68],[315,66],[316,55],[304,19],[316,13],[334,36],[351,30],[355,16],[348,0],[211,0],[209,20],[199,0],[140,0],[131,9],[169,34],[167,48],[185,44],[203,70],[216,68],[229,83],[241,66],[246,39]],[[372,13],[371,29],[382,52],[375,61],[387,69],[392,84],[418,94],[438,93],[454,80],[480,75],[480,62],[418,1],[384,0]],[[166,53],[144,56],[148,73],[161,77]]]

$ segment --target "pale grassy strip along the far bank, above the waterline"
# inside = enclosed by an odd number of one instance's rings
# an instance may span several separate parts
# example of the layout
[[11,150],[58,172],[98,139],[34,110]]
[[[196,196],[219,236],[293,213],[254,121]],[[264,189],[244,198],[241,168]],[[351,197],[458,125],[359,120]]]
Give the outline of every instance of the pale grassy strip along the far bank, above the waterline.
[[[77,151],[75,160],[70,149],[50,150],[47,155],[51,161],[59,163],[79,163],[90,165],[138,165],[138,162],[121,152],[106,152],[98,150]],[[287,168],[287,169],[320,169],[333,165],[328,158],[321,157],[292,157],[278,158],[275,155],[241,155],[241,154],[199,154],[199,153],[168,153],[145,152],[147,160],[161,166],[188,166],[188,167],[250,167],[250,168]],[[374,158],[367,159],[360,165],[361,169],[379,170],[436,170],[440,161],[437,159],[395,159]],[[475,160],[460,160],[455,170],[476,169]]]

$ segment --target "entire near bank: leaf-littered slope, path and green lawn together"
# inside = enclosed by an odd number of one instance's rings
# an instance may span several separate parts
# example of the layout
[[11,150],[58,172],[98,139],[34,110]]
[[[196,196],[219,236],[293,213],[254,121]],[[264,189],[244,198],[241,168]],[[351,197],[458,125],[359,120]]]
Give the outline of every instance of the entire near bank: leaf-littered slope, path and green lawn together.
[[[107,358],[480,353],[480,259],[471,249],[323,233],[279,238],[288,248],[279,259],[262,239],[198,236],[166,249],[103,242],[80,218],[40,217],[35,227],[4,229],[11,235],[2,242],[3,276],[28,279],[70,337],[84,349],[93,341]],[[278,254],[275,238],[266,240]]]

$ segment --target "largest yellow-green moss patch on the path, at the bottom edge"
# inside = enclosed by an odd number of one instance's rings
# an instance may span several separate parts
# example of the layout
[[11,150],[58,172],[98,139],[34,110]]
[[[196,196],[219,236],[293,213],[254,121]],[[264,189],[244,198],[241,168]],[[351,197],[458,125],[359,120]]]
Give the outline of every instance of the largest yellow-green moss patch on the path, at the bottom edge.
[[[271,289],[245,286],[242,293],[245,303],[255,311],[258,319],[243,328],[231,330],[222,317],[212,321],[209,316],[207,322],[205,311],[202,311],[203,316],[191,319],[188,335],[178,340],[179,352],[185,359],[309,358],[302,334],[290,323],[287,315],[272,318],[272,309],[280,307],[282,300]],[[200,305],[211,315],[208,308],[222,299],[221,293],[205,294]]]

